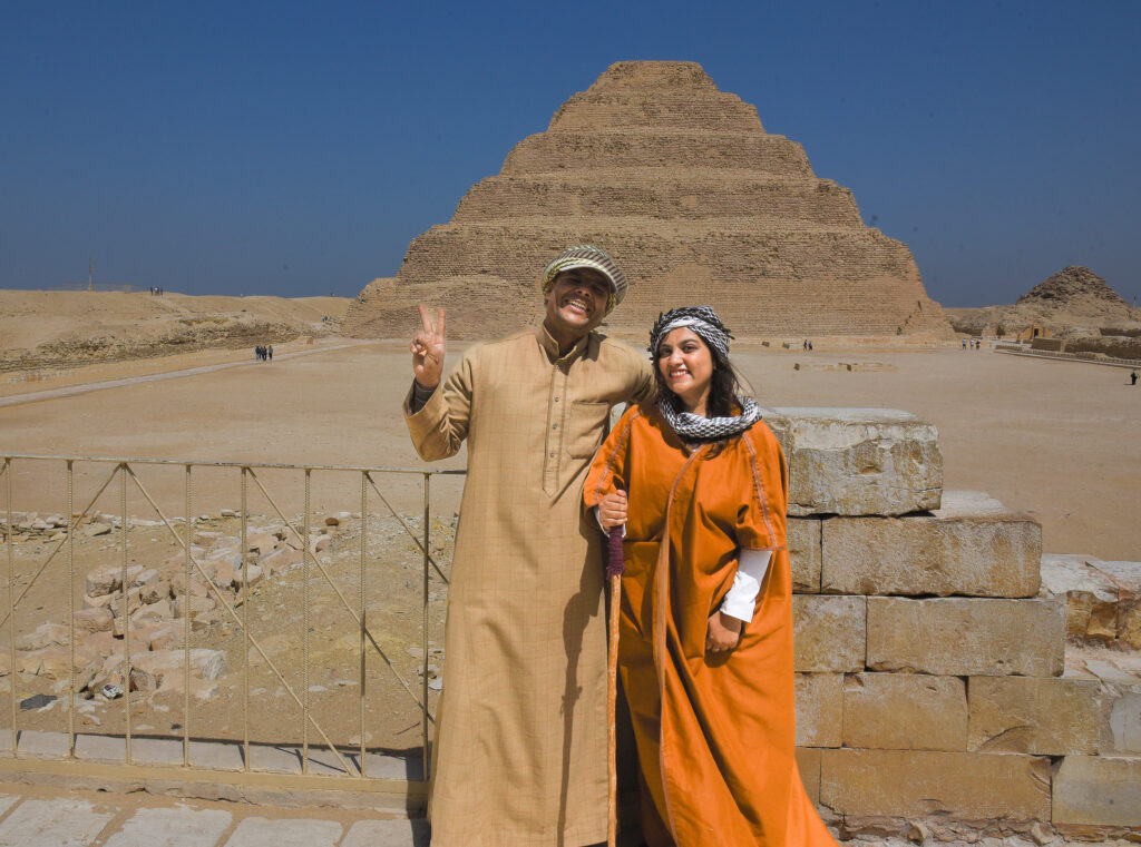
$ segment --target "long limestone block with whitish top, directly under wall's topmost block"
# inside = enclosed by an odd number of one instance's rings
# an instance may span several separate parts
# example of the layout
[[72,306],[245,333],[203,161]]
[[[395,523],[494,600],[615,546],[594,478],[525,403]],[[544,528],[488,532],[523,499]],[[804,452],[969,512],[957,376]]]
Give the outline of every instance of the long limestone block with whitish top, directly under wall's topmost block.
[[1038,593],[1042,528],[978,491],[945,491],[931,514],[824,522],[820,589],[834,594]]

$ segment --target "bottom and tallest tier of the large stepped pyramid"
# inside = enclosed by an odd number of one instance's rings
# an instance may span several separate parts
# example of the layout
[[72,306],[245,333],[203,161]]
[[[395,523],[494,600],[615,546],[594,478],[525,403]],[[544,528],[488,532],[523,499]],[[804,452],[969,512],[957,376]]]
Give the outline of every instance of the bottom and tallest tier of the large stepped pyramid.
[[[655,229],[625,219],[591,219],[582,228],[544,223],[434,227],[410,245],[396,282],[383,292],[366,291],[354,311],[411,306],[414,313],[416,302],[444,304],[460,318],[448,324],[455,337],[502,335],[537,319],[542,306],[536,277],[550,258],[568,244],[592,243],[610,253],[631,280],[622,307],[607,318],[612,332],[641,334],[663,309],[695,299],[717,309],[742,336],[808,331],[897,335],[939,332],[946,323],[938,304],[926,298],[907,249],[876,230],[770,235],[735,221],[715,227],[672,222]],[[837,254],[845,261],[837,264]],[[453,288],[471,277],[488,280],[475,290],[479,302]],[[423,287],[399,291],[410,285]],[[520,308],[528,300],[534,309]],[[496,320],[472,320],[471,315],[488,308]],[[403,336],[410,327],[403,316],[391,326],[379,313],[370,320],[378,329],[387,326],[382,332],[388,337]],[[354,321],[353,316],[346,320],[346,331],[363,332]]]

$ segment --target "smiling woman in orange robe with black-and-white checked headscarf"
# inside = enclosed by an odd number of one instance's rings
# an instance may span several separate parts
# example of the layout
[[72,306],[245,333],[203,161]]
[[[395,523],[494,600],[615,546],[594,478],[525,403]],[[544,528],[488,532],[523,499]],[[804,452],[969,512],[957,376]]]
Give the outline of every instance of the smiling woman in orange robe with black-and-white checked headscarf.
[[787,471],[738,397],[729,337],[707,307],[658,318],[659,399],[626,410],[584,487],[602,529],[625,528],[618,667],[642,833],[650,847],[835,847],[793,750]]

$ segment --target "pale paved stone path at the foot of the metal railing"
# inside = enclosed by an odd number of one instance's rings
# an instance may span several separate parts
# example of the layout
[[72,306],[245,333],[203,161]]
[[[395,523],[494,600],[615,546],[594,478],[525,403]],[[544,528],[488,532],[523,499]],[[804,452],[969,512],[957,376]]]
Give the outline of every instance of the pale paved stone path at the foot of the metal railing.
[[[165,805],[159,805],[165,804]],[[354,820],[357,817],[359,820]],[[0,847],[427,847],[422,820],[0,787]]]

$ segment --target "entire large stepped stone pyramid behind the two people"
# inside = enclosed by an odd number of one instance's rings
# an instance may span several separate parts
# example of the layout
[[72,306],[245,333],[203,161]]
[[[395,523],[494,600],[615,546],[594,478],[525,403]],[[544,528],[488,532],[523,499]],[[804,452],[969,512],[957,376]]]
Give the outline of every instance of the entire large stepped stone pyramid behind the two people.
[[343,332],[407,337],[422,302],[448,309],[453,337],[499,337],[535,320],[540,270],[584,242],[631,279],[607,324],[620,335],[697,300],[738,336],[953,336],[907,246],[691,62],[612,65],[413,239]]

